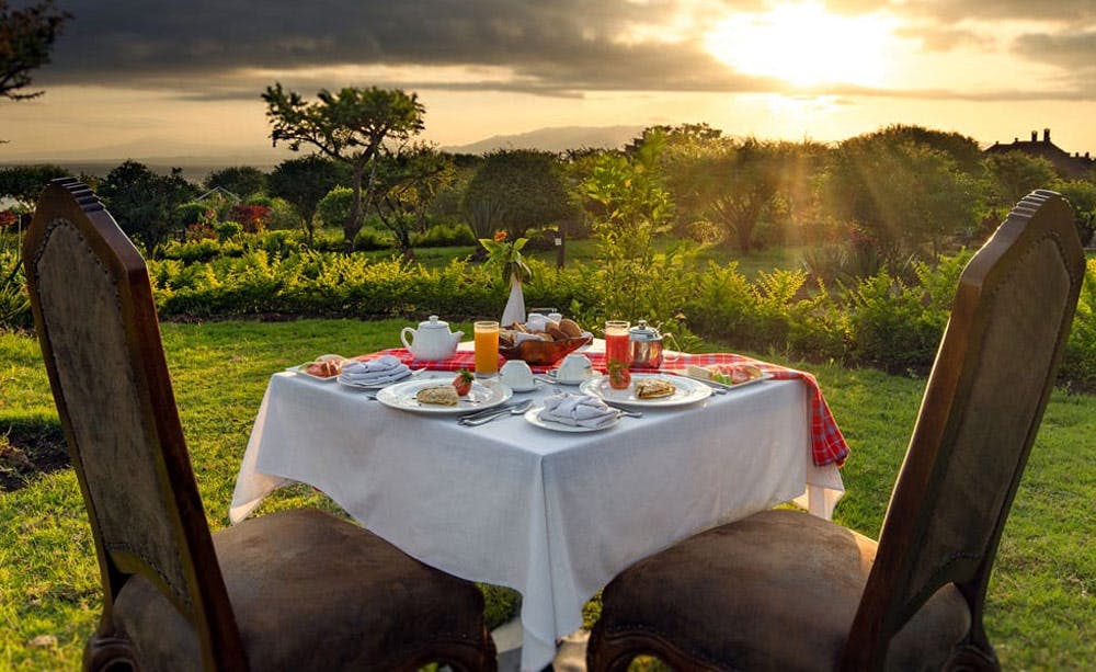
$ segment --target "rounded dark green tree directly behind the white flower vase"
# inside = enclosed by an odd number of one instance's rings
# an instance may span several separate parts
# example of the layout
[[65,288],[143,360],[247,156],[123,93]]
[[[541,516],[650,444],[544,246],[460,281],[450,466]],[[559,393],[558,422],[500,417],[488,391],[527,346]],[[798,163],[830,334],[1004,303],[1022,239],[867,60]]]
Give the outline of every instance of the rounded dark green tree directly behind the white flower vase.
[[[492,213],[493,221],[504,225],[511,239],[572,214],[559,161],[555,155],[535,149],[500,149],[487,155],[468,183],[463,209]],[[490,238],[492,231],[476,234]]]

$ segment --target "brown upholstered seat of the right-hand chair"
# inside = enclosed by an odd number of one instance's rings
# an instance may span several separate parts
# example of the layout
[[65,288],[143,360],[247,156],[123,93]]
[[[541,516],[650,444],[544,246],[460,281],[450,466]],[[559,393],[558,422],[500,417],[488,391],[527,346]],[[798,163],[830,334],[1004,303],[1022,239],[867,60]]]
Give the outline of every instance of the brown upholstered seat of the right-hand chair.
[[[602,595],[602,637],[641,627],[719,670],[834,670],[875,557],[874,540],[840,525],[758,513],[630,567]],[[948,583],[895,635],[887,669],[938,670],[969,629]]]

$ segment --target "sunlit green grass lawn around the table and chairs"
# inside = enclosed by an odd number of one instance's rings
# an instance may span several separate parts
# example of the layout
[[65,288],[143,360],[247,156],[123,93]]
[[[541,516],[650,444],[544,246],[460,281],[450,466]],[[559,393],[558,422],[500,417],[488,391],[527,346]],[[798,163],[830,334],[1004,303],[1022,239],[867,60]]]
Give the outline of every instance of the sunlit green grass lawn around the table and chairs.
[[[772,267],[772,265],[769,265]],[[239,460],[271,373],[312,356],[391,346],[403,321],[164,324],[175,396],[206,513],[227,525]],[[468,324],[454,328],[467,329]],[[718,350],[717,344],[709,344]],[[778,357],[766,357],[779,361]],[[849,444],[835,519],[876,536],[924,379],[804,366],[822,383]],[[1006,670],[1081,670],[1096,660],[1096,397],[1055,392],[1013,506],[990,583],[986,627]],[[100,612],[99,570],[71,469],[42,472],[59,441],[37,343],[0,333],[0,669],[78,669]],[[334,506],[305,487],[259,514]],[[491,618],[510,591],[489,589]],[[590,610],[596,613],[596,605]]]

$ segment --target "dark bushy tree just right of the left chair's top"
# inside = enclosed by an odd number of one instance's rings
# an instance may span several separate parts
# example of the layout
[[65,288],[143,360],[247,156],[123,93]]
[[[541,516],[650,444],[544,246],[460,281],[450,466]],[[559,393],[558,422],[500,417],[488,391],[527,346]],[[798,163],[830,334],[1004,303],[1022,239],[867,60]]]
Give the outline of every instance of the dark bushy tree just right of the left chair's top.
[[168,240],[176,226],[176,208],[194,198],[196,192],[183,179],[181,168],[160,175],[133,160],[109,172],[99,185],[99,195],[122,230],[139,239],[150,253]]

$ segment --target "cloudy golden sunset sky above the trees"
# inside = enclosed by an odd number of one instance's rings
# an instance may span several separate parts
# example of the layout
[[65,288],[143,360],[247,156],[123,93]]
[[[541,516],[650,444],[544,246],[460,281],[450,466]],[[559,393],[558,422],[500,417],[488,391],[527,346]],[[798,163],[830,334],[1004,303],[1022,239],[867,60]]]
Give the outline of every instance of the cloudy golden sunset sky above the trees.
[[[837,141],[890,124],[1096,153],[1096,0],[55,0],[72,14],[0,161],[272,153],[275,82],[398,88],[441,146],[707,123]],[[26,0],[11,0],[25,7]],[[113,158],[113,157],[105,157]]]

